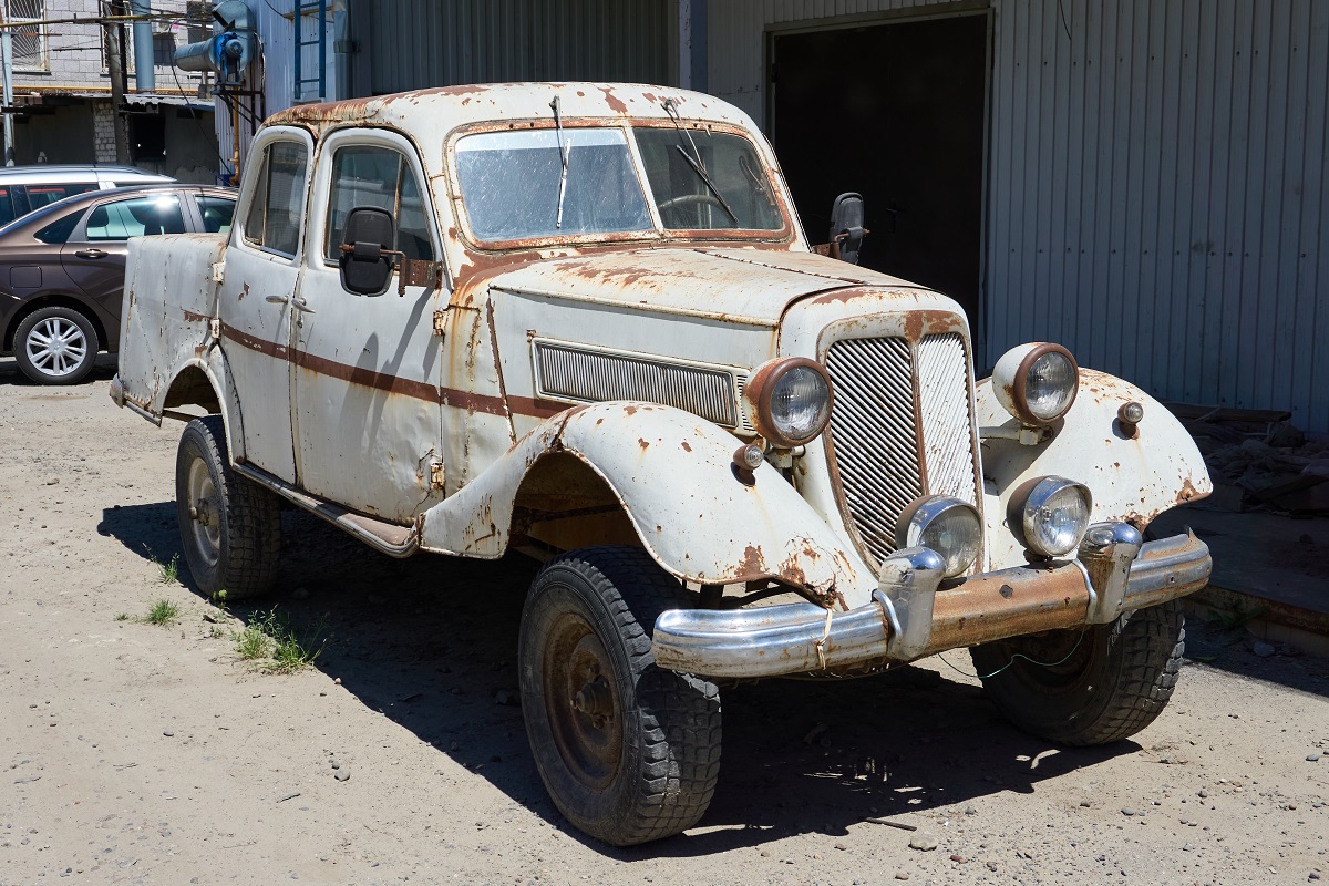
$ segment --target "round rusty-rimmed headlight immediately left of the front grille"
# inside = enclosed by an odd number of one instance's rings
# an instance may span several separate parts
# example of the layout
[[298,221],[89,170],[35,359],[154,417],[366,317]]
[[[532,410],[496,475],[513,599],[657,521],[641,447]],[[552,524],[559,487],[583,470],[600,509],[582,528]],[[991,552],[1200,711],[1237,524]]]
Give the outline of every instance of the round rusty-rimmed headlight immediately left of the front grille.
[[759,434],[779,448],[801,446],[831,420],[831,376],[807,357],[762,364],[744,389]]

